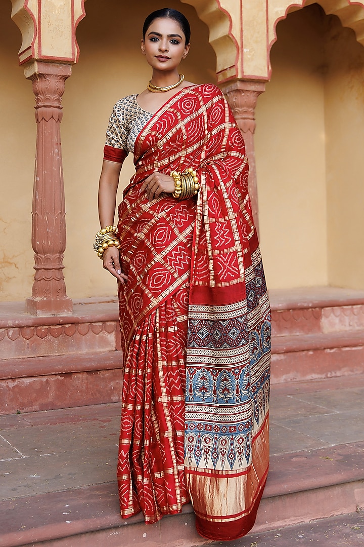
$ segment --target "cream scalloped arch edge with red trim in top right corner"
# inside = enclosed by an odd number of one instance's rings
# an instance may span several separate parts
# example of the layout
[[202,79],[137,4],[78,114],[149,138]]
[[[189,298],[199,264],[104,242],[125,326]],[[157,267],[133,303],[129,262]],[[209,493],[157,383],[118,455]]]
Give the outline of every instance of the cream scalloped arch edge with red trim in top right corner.
[[326,15],[337,15],[344,27],[353,29],[357,41],[364,45],[364,2],[352,0],[302,0],[300,2],[282,2],[282,6],[276,9],[274,20],[270,21],[270,39],[268,43],[268,56],[272,45],[277,40],[277,23],[285,19],[291,11],[295,11],[309,4],[319,4]]

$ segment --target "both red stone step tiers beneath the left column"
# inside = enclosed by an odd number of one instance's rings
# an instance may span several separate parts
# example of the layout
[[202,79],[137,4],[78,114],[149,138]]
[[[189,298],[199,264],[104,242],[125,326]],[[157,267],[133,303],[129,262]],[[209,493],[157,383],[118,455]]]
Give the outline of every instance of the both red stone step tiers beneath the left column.
[[116,299],[74,301],[73,315],[33,317],[0,305],[0,415],[119,401]]

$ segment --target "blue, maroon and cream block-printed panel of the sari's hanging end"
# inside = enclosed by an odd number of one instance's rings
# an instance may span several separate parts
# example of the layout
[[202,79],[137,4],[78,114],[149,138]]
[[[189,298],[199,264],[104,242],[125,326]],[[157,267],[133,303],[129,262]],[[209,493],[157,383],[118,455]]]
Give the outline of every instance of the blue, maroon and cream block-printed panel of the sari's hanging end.
[[[244,313],[224,310],[223,319],[190,318],[186,379],[185,455],[188,465],[238,469],[249,464],[254,432],[269,406],[270,310],[253,327],[251,312],[263,306],[261,262],[246,284]],[[211,312],[211,309],[210,309]],[[204,350],[210,350],[208,352]],[[213,351],[211,351],[213,350]],[[206,355],[212,356],[210,361]],[[196,357],[197,356],[197,357]],[[252,381],[252,379],[254,379]]]

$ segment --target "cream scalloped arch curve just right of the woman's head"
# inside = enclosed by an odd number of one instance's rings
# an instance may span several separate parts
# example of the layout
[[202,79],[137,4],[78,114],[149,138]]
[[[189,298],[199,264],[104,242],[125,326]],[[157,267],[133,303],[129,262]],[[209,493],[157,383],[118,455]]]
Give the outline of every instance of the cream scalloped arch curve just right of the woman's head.
[[238,77],[239,44],[232,32],[232,18],[220,0],[181,0],[192,5],[210,31],[209,42],[216,53],[219,83]]

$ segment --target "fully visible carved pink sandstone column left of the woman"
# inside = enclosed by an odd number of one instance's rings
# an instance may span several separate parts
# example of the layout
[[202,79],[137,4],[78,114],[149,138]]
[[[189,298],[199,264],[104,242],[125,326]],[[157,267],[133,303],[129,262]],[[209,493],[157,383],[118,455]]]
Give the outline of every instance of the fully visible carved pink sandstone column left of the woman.
[[27,312],[33,315],[69,315],[72,300],[65,290],[65,207],[61,155],[62,95],[70,65],[35,62],[26,76],[33,82],[37,148],[32,208],[32,246],[35,275]]

